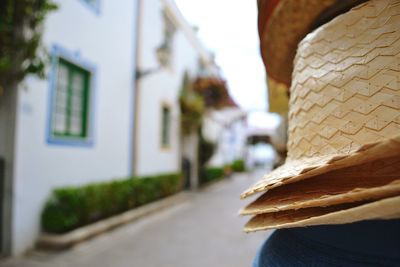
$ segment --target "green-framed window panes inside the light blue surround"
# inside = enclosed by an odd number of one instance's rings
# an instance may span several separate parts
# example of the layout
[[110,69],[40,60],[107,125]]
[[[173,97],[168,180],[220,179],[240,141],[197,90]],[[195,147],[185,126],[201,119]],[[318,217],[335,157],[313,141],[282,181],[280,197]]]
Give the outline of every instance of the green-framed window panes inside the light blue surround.
[[90,75],[89,71],[58,59],[51,113],[54,138],[88,137]]

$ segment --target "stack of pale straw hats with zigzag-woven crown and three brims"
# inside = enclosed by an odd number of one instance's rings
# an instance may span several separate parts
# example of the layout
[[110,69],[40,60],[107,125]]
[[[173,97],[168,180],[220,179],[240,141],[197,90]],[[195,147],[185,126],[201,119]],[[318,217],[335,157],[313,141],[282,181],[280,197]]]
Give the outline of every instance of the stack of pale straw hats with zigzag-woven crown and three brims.
[[241,195],[260,195],[245,231],[400,218],[400,0],[357,5],[298,44],[288,119],[285,164]]

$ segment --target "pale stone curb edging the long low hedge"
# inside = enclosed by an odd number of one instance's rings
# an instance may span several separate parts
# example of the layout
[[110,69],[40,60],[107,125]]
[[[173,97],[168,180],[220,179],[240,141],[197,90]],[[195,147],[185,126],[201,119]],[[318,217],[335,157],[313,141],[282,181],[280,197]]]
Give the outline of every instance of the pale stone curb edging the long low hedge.
[[118,226],[133,222],[172,205],[182,203],[188,200],[188,195],[189,193],[181,192],[171,197],[126,211],[122,214],[77,228],[65,234],[42,233],[36,242],[36,247],[48,250],[62,250],[72,247],[73,245],[110,231]]

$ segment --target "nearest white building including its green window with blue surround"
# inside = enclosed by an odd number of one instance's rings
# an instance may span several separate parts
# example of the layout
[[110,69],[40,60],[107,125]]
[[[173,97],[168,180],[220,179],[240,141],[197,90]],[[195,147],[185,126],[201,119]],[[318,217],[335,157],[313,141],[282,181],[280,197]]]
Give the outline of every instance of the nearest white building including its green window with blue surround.
[[[48,79],[27,78],[17,92],[12,149],[5,128],[3,253],[32,247],[53,188],[131,174],[136,1],[57,1],[45,22]],[[10,118],[1,109],[0,127]],[[11,140],[12,141],[12,140]]]

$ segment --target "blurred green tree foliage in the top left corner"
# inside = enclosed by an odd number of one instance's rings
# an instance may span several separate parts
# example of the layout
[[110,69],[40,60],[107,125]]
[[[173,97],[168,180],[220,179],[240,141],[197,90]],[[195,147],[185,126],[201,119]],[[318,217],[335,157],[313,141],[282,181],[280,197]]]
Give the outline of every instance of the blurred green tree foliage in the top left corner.
[[0,91],[14,89],[28,74],[44,77],[43,22],[56,8],[51,0],[0,1]]

